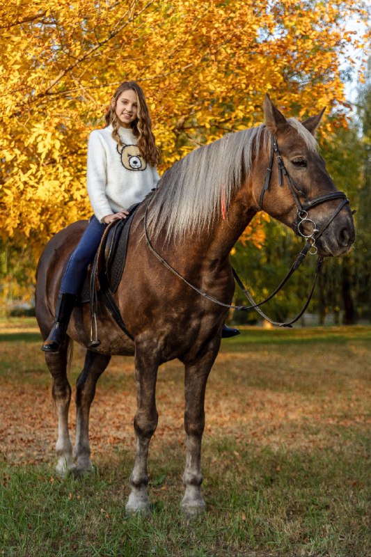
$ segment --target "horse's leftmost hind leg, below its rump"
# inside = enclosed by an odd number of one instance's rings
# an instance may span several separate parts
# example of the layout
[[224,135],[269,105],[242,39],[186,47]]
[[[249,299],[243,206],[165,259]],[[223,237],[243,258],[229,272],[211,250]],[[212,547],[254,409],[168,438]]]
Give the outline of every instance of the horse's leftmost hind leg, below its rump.
[[67,378],[67,368],[71,357],[72,340],[69,338],[63,343],[58,353],[45,353],[45,360],[53,377],[52,394],[58,416],[58,439],[56,441],[58,462],[56,464],[56,471],[61,476],[74,471],[75,468],[72,458],[70,433],[68,432],[71,386]]

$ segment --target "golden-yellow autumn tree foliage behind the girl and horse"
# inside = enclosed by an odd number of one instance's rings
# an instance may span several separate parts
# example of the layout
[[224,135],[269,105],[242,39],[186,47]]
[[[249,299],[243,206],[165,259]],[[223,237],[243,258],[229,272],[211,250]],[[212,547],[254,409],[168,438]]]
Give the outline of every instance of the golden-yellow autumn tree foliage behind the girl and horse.
[[[0,0],[1,237],[43,244],[90,214],[86,141],[121,81],[139,81],[164,162],[286,113],[345,123],[340,56],[362,2]],[[331,133],[332,124],[327,124]],[[259,219],[258,219],[259,221]],[[258,222],[256,221],[256,222]],[[258,225],[244,239],[264,242]]]

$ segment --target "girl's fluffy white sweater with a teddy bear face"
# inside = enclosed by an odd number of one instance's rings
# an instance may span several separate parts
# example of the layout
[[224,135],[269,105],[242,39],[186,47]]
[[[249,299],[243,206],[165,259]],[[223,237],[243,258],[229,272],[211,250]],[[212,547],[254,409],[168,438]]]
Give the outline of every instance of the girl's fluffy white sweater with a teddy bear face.
[[111,125],[93,130],[88,141],[88,196],[100,222],[107,214],[143,201],[159,180],[157,169],[145,162],[136,147],[131,129],[118,130],[124,148],[118,147],[111,133]]

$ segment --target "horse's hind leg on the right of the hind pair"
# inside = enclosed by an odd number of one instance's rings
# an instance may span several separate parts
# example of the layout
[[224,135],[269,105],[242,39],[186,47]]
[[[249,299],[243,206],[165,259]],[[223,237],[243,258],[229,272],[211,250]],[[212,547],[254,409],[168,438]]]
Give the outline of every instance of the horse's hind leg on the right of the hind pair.
[[84,369],[76,383],[76,442],[74,457],[77,472],[93,470],[90,462],[89,412],[95,395],[95,386],[109,364],[111,356],[98,354],[92,350],[86,352]]

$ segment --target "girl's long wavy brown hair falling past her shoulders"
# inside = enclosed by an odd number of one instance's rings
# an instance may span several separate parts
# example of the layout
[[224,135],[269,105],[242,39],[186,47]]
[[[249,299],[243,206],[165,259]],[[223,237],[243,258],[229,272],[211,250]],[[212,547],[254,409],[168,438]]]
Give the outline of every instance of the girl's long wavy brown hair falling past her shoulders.
[[132,90],[136,93],[136,99],[138,102],[136,119],[131,124],[134,136],[137,138],[136,145],[141,151],[141,155],[145,161],[151,166],[157,166],[157,164],[161,161],[161,153],[159,148],[156,146],[155,136],[152,133],[152,120],[150,118],[147,103],[145,102],[143,89],[135,81],[124,81],[124,83],[116,89],[111,100],[109,111],[106,113],[106,116],[104,116],[106,126],[112,124],[112,137],[115,141],[117,141],[120,147],[123,146],[123,141],[118,133],[120,120],[116,114],[116,104],[121,93],[128,90]]

